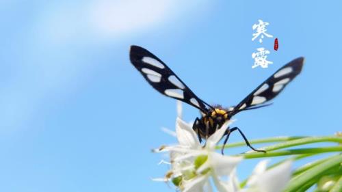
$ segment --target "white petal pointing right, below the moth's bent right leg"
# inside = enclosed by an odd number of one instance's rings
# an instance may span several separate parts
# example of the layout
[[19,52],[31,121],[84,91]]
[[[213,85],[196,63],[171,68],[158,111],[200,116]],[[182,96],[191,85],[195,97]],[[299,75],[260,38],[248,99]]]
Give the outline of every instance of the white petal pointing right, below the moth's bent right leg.
[[208,161],[214,174],[218,176],[228,176],[240,161],[244,159],[242,156],[224,156],[217,152],[209,152]]

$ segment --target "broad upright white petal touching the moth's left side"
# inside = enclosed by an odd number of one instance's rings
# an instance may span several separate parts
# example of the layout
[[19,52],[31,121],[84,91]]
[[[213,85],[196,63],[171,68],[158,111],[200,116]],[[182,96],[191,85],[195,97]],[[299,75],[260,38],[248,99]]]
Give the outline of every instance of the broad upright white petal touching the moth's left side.
[[181,146],[188,146],[192,149],[200,149],[200,141],[198,141],[197,135],[186,122],[181,118],[176,119],[176,135]]

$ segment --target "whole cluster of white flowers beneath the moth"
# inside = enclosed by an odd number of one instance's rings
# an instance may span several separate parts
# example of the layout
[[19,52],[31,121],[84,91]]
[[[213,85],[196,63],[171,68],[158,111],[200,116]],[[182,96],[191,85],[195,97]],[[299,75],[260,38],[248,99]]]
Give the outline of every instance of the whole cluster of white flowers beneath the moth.
[[181,119],[181,105],[178,109],[176,137],[179,143],[174,146],[163,146],[158,150],[170,153],[171,167],[165,178],[157,180],[171,181],[183,192],[213,191],[211,180],[215,184],[215,189],[222,192],[275,192],[285,187],[291,175],[291,161],[269,170],[266,170],[267,161],[261,161],[248,179],[248,188],[241,189],[236,167],[243,157],[224,156],[215,150],[228,125],[233,121],[226,122],[202,147],[192,124]]

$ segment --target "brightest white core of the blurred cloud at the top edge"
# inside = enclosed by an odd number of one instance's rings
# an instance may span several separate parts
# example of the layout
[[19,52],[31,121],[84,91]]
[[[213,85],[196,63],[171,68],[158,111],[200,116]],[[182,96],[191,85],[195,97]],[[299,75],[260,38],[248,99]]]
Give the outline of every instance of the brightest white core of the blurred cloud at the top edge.
[[106,36],[137,33],[161,25],[170,19],[179,1],[96,1],[91,6],[90,20],[94,29]]

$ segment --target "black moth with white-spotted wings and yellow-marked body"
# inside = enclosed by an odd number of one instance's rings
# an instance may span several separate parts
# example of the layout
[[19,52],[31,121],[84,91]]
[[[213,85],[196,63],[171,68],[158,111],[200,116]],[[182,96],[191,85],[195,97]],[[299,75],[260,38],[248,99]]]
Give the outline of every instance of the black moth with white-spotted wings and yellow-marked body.
[[[267,103],[276,97],[284,88],[298,75],[304,64],[304,57],[293,59],[285,66],[278,69],[271,77],[263,81],[246,98],[241,100],[234,107],[224,108],[220,105],[209,105],[204,100],[198,98],[192,90],[168,67],[161,59],[140,46],[131,46],[129,57],[133,66],[142,74],[146,81],[161,94],[186,102],[192,107],[200,110],[201,117],[196,118],[193,129],[198,135],[198,139],[207,139],[213,135],[224,122],[231,120],[233,115],[250,109],[257,109],[270,105]],[[250,145],[247,137],[238,127],[227,128],[223,137],[222,154],[229,135],[238,131],[244,138],[246,145],[254,151],[257,150]]]

